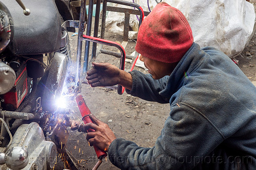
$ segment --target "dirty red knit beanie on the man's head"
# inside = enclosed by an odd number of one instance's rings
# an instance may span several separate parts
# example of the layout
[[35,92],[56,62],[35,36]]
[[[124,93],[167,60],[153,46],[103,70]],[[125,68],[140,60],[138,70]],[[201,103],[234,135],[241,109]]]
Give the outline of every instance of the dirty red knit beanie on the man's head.
[[180,61],[194,39],[185,16],[167,3],[159,3],[142,21],[135,50],[164,63]]

